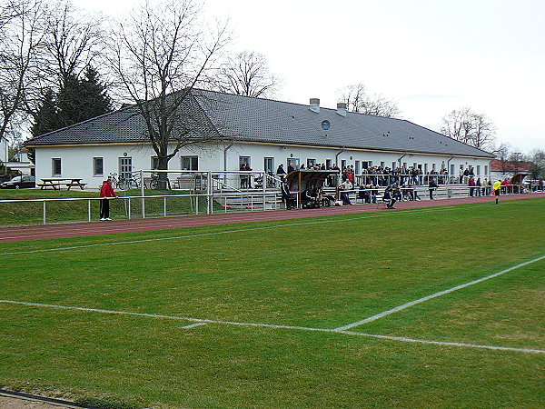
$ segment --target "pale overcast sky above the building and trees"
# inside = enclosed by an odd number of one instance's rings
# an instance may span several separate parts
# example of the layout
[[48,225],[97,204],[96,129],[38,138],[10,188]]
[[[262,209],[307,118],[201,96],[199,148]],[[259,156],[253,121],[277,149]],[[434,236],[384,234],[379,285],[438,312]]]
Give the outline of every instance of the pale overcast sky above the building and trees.
[[[153,3],[153,0],[151,0]],[[106,15],[128,0],[75,0]],[[545,149],[545,0],[205,0],[229,18],[233,51],[265,55],[276,99],[336,107],[362,83],[404,119],[434,130],[470,106],[513,150]]]

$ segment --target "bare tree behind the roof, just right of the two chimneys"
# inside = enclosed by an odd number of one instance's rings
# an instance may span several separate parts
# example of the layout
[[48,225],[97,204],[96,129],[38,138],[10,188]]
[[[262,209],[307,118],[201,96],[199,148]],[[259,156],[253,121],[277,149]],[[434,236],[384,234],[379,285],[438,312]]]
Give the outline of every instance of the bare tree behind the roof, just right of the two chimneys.
[[345,86],[341,90],[341,98],[351,112],[386,118],[397,118],[401,114],[397,104],[384,95],[368,95],[362,83]]

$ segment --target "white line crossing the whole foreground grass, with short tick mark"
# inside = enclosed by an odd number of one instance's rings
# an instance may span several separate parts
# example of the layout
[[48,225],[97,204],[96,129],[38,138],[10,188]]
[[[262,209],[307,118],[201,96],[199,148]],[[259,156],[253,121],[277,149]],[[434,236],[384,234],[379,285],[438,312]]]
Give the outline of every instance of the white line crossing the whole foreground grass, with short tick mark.
[[[310,331],[310,332],[328,333],[328,334],[344,334],[344,335],[363,336],[368,338],[376,338],[376,339],[383,339],[383,340],[396,341],[396,342],[402,342],[402,343],[411,343],[411,344],[432,344],[432,345],[441,345],[441,346],[455,346],[455,347],[461,347],[461,348],[487,349],[492,351],[510,351],[510,352],[519,352],[519,353],[527,353],[527,354],[545,354],[545,350],[541,350],[541,349],[516,348],[516,347],[510,347],[510,346],[482,345],[482,344],[465,344],[465,343],[454,343],[454,342],[444,342],[444,341],[430,341],[430,340],[424,340],[424,339],[407,338],[404,336],[365,334],[365,333],[356,333],[353,331],[340,331],[337,329],[330,329],[330,328],[312,328],[307,326],[260,324],[260,323],[239,323],[235,321],[208,320],[203,318],[191,318],[191,317],[183,317],[183,316],[175,316],[175,315],[134,313],[130,311],[113,311],[113,310],[103,310],[99,308],[84,308],[84,307],[67,306],[67,305],[27,303],[23,301],[13,301],[13,300],[0,300],[0,304],[25,305],[25,306],[40,307],[40,308],[54,308],[54,309],[61,309],[61,310],[83,311],[88,313],[121,314],[121,315],[143,316],[147,318],[163,318],[163,319],[177,320],[177,321],[190,321],[196,324],[199,324],[199,323],[200,324],[225,324],[225,325],[263,327],[263,328],[273,328],[273,329]],[[190,325],[187,325],[186,328],[189,326]]]

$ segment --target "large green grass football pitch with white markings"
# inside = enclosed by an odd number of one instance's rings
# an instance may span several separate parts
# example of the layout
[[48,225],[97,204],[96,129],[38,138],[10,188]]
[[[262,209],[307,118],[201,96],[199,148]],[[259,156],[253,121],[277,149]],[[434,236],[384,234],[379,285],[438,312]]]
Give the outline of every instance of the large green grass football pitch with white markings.
[[0,387],[104,407],[543,407],[543,231],[530,199],[2,244]]

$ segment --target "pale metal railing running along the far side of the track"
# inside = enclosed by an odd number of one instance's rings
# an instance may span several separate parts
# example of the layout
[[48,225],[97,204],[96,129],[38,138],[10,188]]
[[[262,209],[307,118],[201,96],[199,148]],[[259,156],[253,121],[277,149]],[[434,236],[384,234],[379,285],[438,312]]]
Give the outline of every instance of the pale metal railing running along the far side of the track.
[[[112,205],[115,217],[145,218],[150,216],[169,216],[179,214],[214,214],[227,212],[275,210],[283,208],[281,194],[278,190],[262,191],[231,191],[213,192],[209,185],[207,193],[191,193],[184,195],[130,195],[120,196]],[[345,191],[354,203],[362,199],[365,193],[382,195],[385,187],[373,186],[370,189],[354,188]],[[421,199],[427,198],[430,187],[426,185],[412,186]],[[471,195],[490,195],[490,186],[441,185],[433,189],[435,198],[467,197]],[[507,185],[502,188],[504,194],[524,193],[519,185]],[[528,191],[531,191],[530,189]],[[404,192],[401,189],[401,192]],[[334,196],[336,189],[324,189],[324,193]],[[297,197],[299,195],[296,195]],[[405,195],[406,196],[406,195]],[[10,205],[9,212],[16,215],[18,212],[28,214],[28,222],[62,223],[75,221],[92,221],[98,219],[100,197],[64,197],[64,198],[36,198],[36,199],[3,199],[0,206]],[[109,198],[114,200],[114,198]],[[86,205],[74,205],[86,203]],[[364,200],[362,200],[362,203]],[[33,210],[32,205],[36,208]],[[17,207],[17,205],[21,207]],[[297,205],[301,205],[297,201]],[[8,213],[8,212],[4,212]],[[15,218],[15,216],[14,216]],[[26,222],[23,222],[28,224]]]

